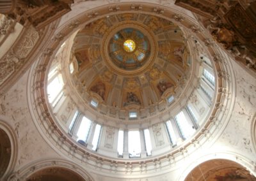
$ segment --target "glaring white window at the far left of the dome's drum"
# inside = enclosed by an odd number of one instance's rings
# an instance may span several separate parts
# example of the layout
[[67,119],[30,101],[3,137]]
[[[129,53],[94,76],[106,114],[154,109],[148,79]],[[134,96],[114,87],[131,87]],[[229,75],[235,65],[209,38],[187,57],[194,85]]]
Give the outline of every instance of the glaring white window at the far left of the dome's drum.
[[56,76],[47,86],[47,93],[49,98],[49,103],[52,103],[54,99],[60,94],[63,87],[63,80],[61,75]]

